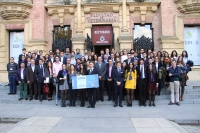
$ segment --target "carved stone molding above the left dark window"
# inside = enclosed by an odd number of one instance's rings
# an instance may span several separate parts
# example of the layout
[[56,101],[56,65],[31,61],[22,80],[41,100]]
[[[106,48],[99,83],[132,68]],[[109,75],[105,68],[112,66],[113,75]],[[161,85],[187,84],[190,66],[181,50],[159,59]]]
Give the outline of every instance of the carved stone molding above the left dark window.
[[60,20],[60,26],[64,24],[64,15],[65,14],[74,14],[74,8],[76,5],[60,5],[60,6],[53,6],[53,5],[45,5],[48,9],[48,14],[50,16],[54,14],[58,14]]

